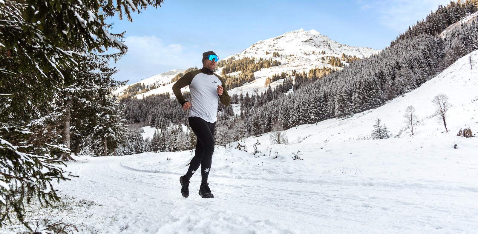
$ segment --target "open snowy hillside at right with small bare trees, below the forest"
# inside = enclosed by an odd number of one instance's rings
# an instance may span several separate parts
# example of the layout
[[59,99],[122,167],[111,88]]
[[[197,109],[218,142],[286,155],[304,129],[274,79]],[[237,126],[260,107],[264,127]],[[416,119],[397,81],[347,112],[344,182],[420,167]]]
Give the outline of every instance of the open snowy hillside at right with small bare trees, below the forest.
[[[307,137],[302,144],[317,142],[348,141],[369,136],[375,119],[379,117],[382,124],[394,135],[411,137],[411,128],[404,123],[405,109],[414,106],[419,122],[414,126],[413,137],[456,136],[459,129],[471,128],[478,131],[478,51],[466,55],[445,69],[436,77],[425,82],[415,90],[399,96],[376,109],[355,114],[353,117],[339,120],[336,118],[311,125],[301,125],[287,130],[289,139]],[[445,132],[443,121],[434,116],[435,106],[432,99],[438,94],[449,97],[452,107],[447,112]],[[402,133],[400,131],[402,130]],[[269,134],[254,138],[267,141]]]

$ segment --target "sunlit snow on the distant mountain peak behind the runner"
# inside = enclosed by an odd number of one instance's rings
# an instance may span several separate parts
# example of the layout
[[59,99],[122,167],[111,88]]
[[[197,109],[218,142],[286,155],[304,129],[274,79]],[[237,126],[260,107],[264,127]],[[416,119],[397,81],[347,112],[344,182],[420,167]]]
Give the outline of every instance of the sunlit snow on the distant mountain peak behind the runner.
[[[325,53],[321,53],[325,51]],[[266,54],[267,52],[267,54]],[[280,56],[272,56],[274,52],[280,54]],[[313,53],[315,52],[315,53]],[[331,67],[330,64],[322,61],[322,57],[340,57],[342,53],[350,56],[357,56],[359,58],[362,57],[369,57],[372,54],[379,53],[380,50],[375,50],[366,47],[353,47],[349,45],[344,45],[338,43],[336,41],[330,40],[326,35],[322,35],[315,30],[304,31],[303,29],[287,32],[278,37],[273,37],[267,39],[265,41],[259,41],[249,48],[245,49],[244,51],[233,54],[227,58],[234,57],[235,59],[241,59],[243,57],[250,57],[254,56],[257,59],[270,59],[278,60],[281,62],[282,65],[280,66],[273,66],[267,69],[261,69],[260,71],[254,72],[255,80],[250,83],[246,83],[240,87],[234,88],[232,90],[228,90],[229,95],[233,94],[240,94],[240,93],[261,93],[261,91],[265,91],[267,87],[264,86],[265,80],[267,77],[272,76],[272,74],[278,74],[281,72],[288,72],[289,74],[296,70],[298,72],[307,72],[311,68],[315,67]],[[293,56],[290,56],[293,55]],[[336,67],[337,68],[337,67]],[[338,68],[341,69],[341,68]],[[216,71],[216,74],[221,74],[221,68]],[[184,70],[174,70],[184,71]],[[168,72],[167,74],[170,74]],[[146,80],[140,81],[138,83],[144,83],[145,85],[149,84],[158,84],[161,85],[163,83],[168,83],[172,77],[174,77],[177,73],[171,73],[172,76],[164,76],[163,73],[161,75],[155,75],[151,78]],[[232,73],[231,75],[237,75],[240,72]],[[163,82],[163,81],[166,82]],[[275,81],[271,84],[271,87],[274,88],[275,86],[282,83],[282,80]],[[150,90],[144,94],[137,95],[137,98],[142,98],[143,96],[150,96],[155,94],[163,94],[169,92],[171,97],[174,97],[172,92],[172,87],[174,83],[160,86],[156,89]],[[125,90],[126,87],[121,87],[118,89],[118,93]],[[183,92],[189,91],[188,87],[182,89]]]

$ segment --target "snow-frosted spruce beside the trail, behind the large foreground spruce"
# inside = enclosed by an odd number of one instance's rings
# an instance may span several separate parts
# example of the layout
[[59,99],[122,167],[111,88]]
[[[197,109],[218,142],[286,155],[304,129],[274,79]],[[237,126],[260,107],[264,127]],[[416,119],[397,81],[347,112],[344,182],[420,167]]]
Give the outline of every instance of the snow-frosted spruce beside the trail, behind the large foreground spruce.
[[[60,99],[56,110],[62,112],[63,116],[63,143],[70,149],[71,139],[71,146],[76,154],[79,154],[86,144],[98,144],[99,135],[102,135],[103,145],[106,137],[109,151],[114,151],[116,146],[125,140],[126,126],[123,125],[125,120],[122,105],[118,104],[113,94],[113,91],[125,82],[113,80],[112,75],[117,70],[111,68],[108,63],[109,59],[117,60],[122,54],[90,53],[77,56],[78,67],[72,72],[75,76],[71,84],[61,90],[64,98]],[[89,136],[95,141],[86,141]],[[99,154],[100,147],[93,148],[96,149],[96,154]],[[102,155],[105,155],[105,150]],[[66,157],[62,155],[62,158]]]

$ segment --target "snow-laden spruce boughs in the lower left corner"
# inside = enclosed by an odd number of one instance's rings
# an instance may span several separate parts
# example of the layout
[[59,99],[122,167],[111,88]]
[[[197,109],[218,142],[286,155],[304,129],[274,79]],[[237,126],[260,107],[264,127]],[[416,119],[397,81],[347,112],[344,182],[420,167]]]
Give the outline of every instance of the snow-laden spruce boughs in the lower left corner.
[[25,202],[38,199],[49,205],[60,199],[51,182],[68,179],[69,175],[62,167],[52,164],[52,155],[69,153],[69,150],[45,142],[45,138],[56,137],[54,127],[32,132],[9,126],[0,128],[0,134],[0,221],[3,223],[16,216],[29,228],[25,221]]

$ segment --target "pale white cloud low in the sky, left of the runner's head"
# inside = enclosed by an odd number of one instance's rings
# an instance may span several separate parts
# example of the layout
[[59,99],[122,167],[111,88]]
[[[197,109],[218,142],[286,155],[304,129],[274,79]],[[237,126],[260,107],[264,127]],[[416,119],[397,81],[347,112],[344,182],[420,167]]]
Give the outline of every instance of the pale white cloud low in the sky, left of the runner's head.
[[201,64],[200,53],[181,44],[165,45],[156,36],[130,36],[125,44],[128,46],[126,55],[117,64],[111,64],[120,70],[114,75],[118,81],[134,83],[151,75]]

